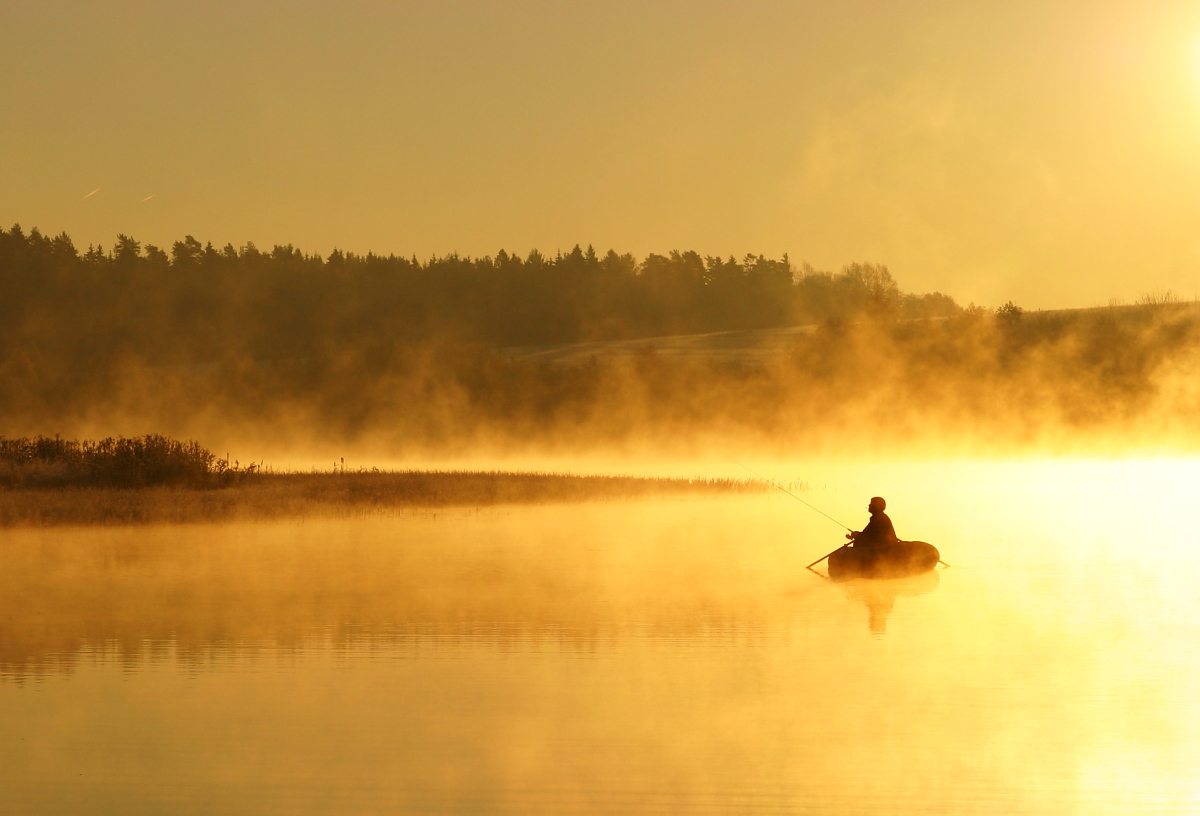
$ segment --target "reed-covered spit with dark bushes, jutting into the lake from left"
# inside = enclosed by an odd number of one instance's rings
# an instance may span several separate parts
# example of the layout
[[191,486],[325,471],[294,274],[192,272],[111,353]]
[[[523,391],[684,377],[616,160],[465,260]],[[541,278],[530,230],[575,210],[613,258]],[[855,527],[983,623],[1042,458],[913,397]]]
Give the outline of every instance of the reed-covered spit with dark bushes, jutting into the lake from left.
[[162,436],[0,437],[0,527],[365,515],[762,490],[736,479],[472,470],[274,473]]

